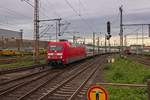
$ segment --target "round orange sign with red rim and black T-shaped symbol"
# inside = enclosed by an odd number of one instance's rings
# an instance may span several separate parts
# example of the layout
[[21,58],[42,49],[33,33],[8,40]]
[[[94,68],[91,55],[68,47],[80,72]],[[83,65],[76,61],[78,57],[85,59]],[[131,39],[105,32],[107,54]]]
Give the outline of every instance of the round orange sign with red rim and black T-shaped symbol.
[[88,100],[108,100],[107,91],[99,85],[90,87],[87,96]]

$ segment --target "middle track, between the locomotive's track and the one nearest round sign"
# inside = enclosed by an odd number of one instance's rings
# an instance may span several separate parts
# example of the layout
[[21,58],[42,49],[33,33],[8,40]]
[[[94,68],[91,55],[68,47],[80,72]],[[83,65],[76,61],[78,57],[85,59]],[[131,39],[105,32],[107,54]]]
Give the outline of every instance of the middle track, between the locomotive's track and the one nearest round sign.
[[[72,69],[71,67],[65,68],[64,70],[57,70],[57,71],[49,71],[44,72],[38,75],[34,78],[27,78],[26,81],[20,82],[18,84],[15,84],[14,86],[11,86],[7,89],[4,89],[5,86],[1,86],[1,93],[0,98],[1,100],[17,100],[17,99],[23,99],[26,97],[26,95],[30,95],[30,93],[36,91],[37,89],[45,86],[47,83],[51,82],[52,80],[55,80],[58,76],[64,76],[69,77],[71,74],[76,73],[81,66],[85,66],[89,63],[91,63],[92,60],[89,60],[87,62],[84,62],[80,65],[74,66]],[[61,80],[63,78],[61,77]],[[56,80],[55,80],[56,81]],[[16,81],[15,81],[16,82]],[[58,82],[58,80],[57,80]],[[12,83],[11,83],[12,84]],[[7,86],[6,86],[7,87]]]

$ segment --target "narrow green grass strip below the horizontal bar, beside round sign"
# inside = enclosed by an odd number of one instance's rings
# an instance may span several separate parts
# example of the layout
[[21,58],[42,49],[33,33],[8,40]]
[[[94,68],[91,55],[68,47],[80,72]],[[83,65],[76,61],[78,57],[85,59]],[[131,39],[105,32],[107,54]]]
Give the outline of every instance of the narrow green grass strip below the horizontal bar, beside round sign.
[[109,100],[147,100],[146,89],[107,87]]

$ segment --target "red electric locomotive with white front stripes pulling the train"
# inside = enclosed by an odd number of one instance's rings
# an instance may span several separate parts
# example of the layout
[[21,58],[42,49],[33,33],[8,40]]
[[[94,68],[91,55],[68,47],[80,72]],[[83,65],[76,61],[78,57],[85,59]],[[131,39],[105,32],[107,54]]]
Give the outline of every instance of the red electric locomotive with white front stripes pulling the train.
[[84,45],[74,45],[68,41],[48,42],[47,61],[50,65],[66,65],[85,57]]

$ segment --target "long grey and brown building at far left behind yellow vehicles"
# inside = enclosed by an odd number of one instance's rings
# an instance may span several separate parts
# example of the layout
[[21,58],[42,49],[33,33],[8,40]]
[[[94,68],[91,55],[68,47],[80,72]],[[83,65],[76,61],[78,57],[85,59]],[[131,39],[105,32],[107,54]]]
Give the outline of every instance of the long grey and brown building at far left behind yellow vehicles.
[[[12,50],[23,50],[26,51],[28,49],[32,50],[34,41],[33,40],[24,40],[22,38],[23,32],[22,30],[19,32],[0,29],[0,49],[12,49]],[[40,41],[40,48],[46,48],[47,42]]]

